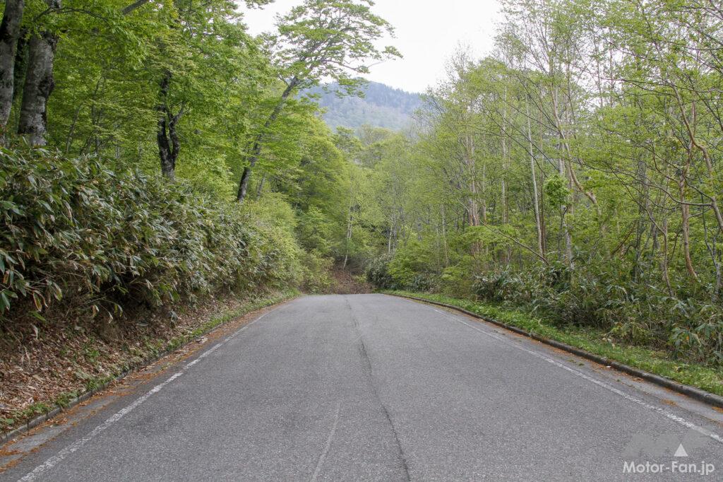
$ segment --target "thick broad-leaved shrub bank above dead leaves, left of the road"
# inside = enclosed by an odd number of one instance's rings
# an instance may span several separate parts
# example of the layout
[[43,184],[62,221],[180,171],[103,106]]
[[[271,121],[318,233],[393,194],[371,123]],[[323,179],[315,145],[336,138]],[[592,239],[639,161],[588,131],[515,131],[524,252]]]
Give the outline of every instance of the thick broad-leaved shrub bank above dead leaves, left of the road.
[[[182,182],[97,158],[0,150],[0,321],[32,300],[79,315],[299,277],[293,237]],[[27,303],[26,303],[27,304]]]

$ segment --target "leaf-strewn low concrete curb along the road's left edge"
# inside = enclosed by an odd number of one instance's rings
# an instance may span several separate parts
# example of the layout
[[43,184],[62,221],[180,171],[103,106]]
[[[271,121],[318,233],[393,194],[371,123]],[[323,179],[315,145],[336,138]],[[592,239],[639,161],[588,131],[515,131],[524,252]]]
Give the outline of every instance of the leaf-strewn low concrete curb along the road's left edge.
[[[263,306],[262,308],[257,308],[256,310],[262,310],[263,308],[268,308],[269,306],[286,303],[287,301],[292,300],[297,296],[298,295],[284,298],[283,300],[279,301],[278,303],[266,305],[266,306]],[[234,316],[234,318],[231,318],[230,320],[224,321],[223,323],[218,324],[218,325],[214,326],[213,328],[203,331],[202,333],[197,334],[193,338],[195,339],[198,337],[205,337],[205,335],[211,333],[212,331],[215,331],[215,330],[221,328],[222,326],[225,326],[225,325],[231,323],[231,321],[237,320],[238,318],[241,318],[241,316],[245,316],[248,313],[251,313],[252,311],[256,311],[256,310],[251,310],[251,311],[248,311],[247,313],[242,313],[239,316]],[[142,360],[139,363],[134,363],[133,365],[130,366],[130,368],[121,372],[114,379],[112,379],[110,381],[106,381],[106,383],[96,387],[95,389],[82,392],[82,394],[78,395],[77,397],[72,399],[70,402],[68,402],[67,405],[64,405],[63,407],[56,406],[53,410],[43,413],[43,415],[38,415],[37,417],[28,420],[26,423],[23,423],[20,427],[14,428],[9,432],[5,432],[4,434],[0,434],[0,445],[5,444],[5,442],[7,442],[11,439],[14,439],[17,436],[27,434],[27,432],[29,432],[31,429],[39,426],[41,423],[46,422],[47,420],[50,420],[51,418],[56,417],[56,415],[63,412],[64,410],[69,410],[72,407],[75,407],[76,405],[78,405],[82,402],[85,402],[85,400],[89,399],[90,397],[93,397],[93,395],[95,395],[96,393],[102,392],[103,390],[107,389],[108,386],[111,386],[112,384],[116,383],[117,381],[124,379],[125,377],[129,376],[131,373],[134,373],[134,372],[140,370],[141,368],[145,368],[148,365],[152,365],[153,363],[157,362],[158,360],[161,360],[161,358],[163,358],[167,355],[171,355],[171,353],[176,352],[177,350],[181,350],[181,348],[187,347],[189,344],[192,344],[194,342],[194,339],[189,339],[189,341],[185,342],[184,344],[179,345],[178,347],[175,347],[173,350],[163,350],[163,352],[158,353],[158,355],[153,355],[152,357],[146,358],[145,360]]]

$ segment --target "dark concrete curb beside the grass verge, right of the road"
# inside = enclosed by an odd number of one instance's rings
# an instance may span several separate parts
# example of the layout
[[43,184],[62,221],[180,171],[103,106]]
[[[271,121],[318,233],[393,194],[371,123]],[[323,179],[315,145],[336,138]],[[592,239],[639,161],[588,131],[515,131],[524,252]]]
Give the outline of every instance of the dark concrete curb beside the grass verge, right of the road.
[[416,296],[397,295],[395,293],[385,293],[385,295],[392,295],[392,296],[396,296],[396,297],[400,297],[400,298],[406,298],[408,300],[421,301],[423,303],[429,303],[432,305],[443,306],[445,308],[450,308],[452,310],[460,311],[461,313],[465,313],[466,315],[469,315],[469,316],[474,316],[474,318],[479,318],[480,320],[487,321],[488,323],[495,324],[504,329],[514,331],[515,333],[521,334],[525,337],[536,339],[538,342],[542,342],[544,344],[549,344],[549,346],[551,346],[551,347],[555,347],[560,350],[564,350],[565,352],[570,352],[573,355],[578,355],[578,357],[586,358],[587,360],[594,361],[595,363],[600,363],[601,365],[615,368],[615,370],[622,371],[624,373],[628,373],[628,375],[637,376],[638,378],[649,381],[653,384],[663,386],[664,388],[667,388],[667,389],[671,389],[674,392],[688,395],[688,397],[694,398],[694,399],[698,400],[699,402],[703,402],[708,405],[713,405],[714,407],[723,408],[723,397],[719,397],[716,394],[706,392],[705,390],[701,390],[699,388],[696,388],[695,386],[680,384],[677,381],[672,381],[671,379],[667,379],[664,376],[655,375],[654,373],[649,373],[647,371],[643,371],[638,368],[633,368],[631,366],[624,365],[623,363],[619,363],[615,360],[610,360],[609,358],[604,358],[599,355],[595,355],[594,353],[586,352],[585,350],[581,350],[580,348],[571,347],[569,344],[557,342],[554,339],[541,337],[541,336],[539,336],[539,334],[535,334],[535,333],[532,333],[531,331],[525,331],[523,329],[519,329],[516,326],[502,323],[502,321],[497,321],[493,318],[487,318],[486,316],[478,315],[477,313],[473,313],[469,310],[465,310],[464,308],[459,308],[458,306],[454,306],[454,305],[448,305],[447,303],[440,303],[438,301],[424,300],[424,298],[419,298]]

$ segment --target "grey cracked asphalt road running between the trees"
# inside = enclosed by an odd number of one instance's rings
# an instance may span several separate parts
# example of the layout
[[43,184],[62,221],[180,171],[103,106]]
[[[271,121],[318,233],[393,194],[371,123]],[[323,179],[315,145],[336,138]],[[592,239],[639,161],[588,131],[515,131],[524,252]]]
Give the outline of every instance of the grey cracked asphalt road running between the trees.
[[[723,427],[713,410],[686,403],[429,305],[309,296],[62,432],[0,478],[659,480],[701,479],[681,465],[712,464],[709,478],[721,480]],[[674,456],[680,445],[688,457]],[[626,473],[629,462],[664,467]]]

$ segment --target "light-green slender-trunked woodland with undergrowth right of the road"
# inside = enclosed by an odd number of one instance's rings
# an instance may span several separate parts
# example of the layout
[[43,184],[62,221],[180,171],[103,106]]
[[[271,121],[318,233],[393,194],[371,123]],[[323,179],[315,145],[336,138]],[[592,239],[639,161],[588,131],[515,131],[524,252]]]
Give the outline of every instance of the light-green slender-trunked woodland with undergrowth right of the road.
[[377,284],[723,361],[723,9],[507,1],[415,138],[382,141]]

